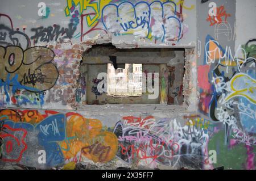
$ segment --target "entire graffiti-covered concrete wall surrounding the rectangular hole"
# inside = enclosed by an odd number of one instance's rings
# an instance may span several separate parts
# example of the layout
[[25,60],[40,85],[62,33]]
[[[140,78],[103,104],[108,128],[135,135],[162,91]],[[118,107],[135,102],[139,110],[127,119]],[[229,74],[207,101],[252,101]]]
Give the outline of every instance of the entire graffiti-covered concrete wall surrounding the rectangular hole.
[[[255,169],[254,34],[238,28],[255,29],[254,2],[44,1],[43,16],[39,2],[1,1],[1,168]],[[183,106],[82,106],[88,69],[80,64],[97,43],[185,48]]]

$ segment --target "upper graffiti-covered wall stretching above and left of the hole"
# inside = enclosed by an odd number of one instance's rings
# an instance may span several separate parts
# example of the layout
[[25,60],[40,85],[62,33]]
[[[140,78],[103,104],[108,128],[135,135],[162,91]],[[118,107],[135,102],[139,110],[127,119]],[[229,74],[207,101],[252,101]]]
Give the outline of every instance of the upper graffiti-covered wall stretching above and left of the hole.
[[196,1],[13,0],[2,1],[0,11],[5,107],[79,106],[86,94],[79,65],[94,44],[196,45]]

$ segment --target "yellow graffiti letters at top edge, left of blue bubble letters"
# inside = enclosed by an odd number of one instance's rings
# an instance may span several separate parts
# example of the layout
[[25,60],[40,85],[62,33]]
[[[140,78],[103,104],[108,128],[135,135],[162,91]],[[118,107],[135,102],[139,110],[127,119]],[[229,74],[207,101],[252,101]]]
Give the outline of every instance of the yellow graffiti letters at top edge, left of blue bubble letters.
[[[75,8],[77,6],[80,6],[80,15],[82,15],[82,12],[87,10],[88,7],[92,8],[95,12],[95,15],[93,18],[91,18],[90,15],[86,16],[86,22],[88,24],[88,27],[94,26],[98,20],[101,18],[101,12],[104,6],[108,5],[112,0],[101,0],[98,2],[91,3],[90,0],[67,0],[67,7],[65,8],[65,14],[66,16],[71,15],[71,9]],[[73,7],[73,5],[75,7]]]

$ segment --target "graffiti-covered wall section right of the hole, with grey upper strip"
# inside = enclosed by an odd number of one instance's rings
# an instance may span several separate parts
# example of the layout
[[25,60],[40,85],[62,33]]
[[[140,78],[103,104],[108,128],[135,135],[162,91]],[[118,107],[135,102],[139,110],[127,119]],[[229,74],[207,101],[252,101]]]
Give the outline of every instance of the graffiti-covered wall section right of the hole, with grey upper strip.
[[197,5],[199,112],[218,125],[214,166],[255,169],[255,1]]

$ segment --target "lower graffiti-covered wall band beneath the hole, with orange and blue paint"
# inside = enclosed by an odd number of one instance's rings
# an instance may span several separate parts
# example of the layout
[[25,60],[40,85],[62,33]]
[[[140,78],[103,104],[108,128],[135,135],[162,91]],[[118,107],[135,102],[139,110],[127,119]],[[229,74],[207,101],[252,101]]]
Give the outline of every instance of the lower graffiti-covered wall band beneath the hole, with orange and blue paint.
[[49,110],[2,110],[0,117],[1,165],[46,169],[93,161],[114,169],[209,167],[207,143],[214,125],[206,119]]

